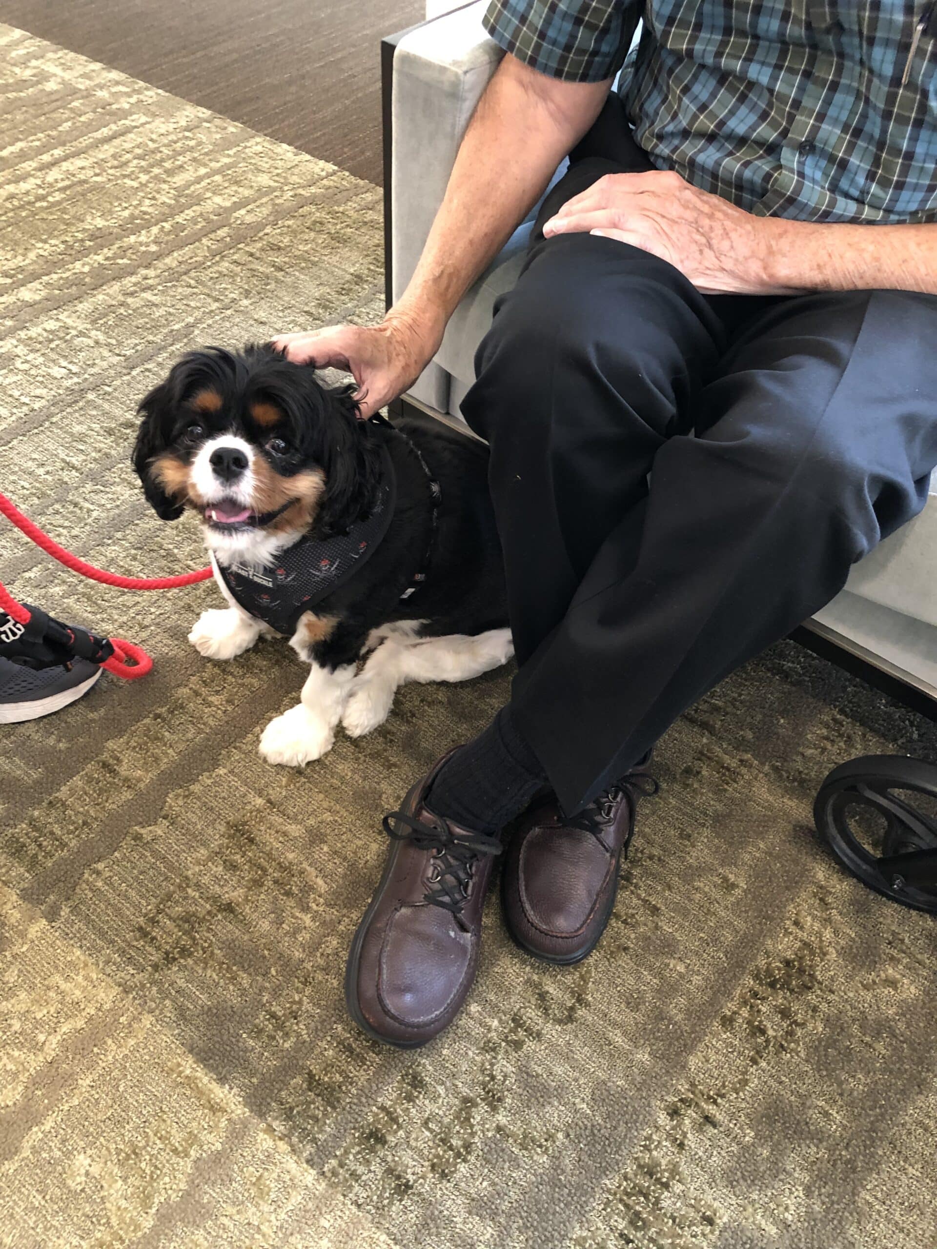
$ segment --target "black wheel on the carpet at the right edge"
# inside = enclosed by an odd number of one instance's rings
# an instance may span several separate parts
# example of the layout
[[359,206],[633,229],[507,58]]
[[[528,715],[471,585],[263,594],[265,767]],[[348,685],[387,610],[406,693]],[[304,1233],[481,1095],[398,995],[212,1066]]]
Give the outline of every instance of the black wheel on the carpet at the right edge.
[[843,763],[820,787],[813,819],[870,889],[937,914],[937,766],[900,754]]

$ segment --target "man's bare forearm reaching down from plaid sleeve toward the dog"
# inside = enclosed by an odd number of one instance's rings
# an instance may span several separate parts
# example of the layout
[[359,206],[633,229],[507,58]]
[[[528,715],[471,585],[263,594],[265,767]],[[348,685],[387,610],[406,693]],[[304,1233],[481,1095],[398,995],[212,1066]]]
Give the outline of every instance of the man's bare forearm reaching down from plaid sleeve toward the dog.
[[506,56],[459,149],[416,271],[389,318],[439,338],[459,301],[598,115],[608,82],[546,79]]

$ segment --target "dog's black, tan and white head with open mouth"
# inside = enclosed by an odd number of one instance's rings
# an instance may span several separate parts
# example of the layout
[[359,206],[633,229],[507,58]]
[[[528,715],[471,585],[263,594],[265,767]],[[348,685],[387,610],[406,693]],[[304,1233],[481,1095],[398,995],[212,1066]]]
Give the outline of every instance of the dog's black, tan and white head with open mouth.
[[380,461],[352,387],[327,388],[274,347],[192,351],[140,405],[134,467],[165,521],[201,516],[209,547],[264,560],[374,506]]

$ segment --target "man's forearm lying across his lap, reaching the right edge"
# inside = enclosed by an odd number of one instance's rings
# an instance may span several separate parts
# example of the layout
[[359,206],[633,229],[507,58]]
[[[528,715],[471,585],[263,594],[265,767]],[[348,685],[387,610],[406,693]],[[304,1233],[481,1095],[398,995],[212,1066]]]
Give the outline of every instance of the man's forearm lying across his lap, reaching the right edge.
[[770,280],[802,291],[937,295],[937,225],[852,225],[765,217]]

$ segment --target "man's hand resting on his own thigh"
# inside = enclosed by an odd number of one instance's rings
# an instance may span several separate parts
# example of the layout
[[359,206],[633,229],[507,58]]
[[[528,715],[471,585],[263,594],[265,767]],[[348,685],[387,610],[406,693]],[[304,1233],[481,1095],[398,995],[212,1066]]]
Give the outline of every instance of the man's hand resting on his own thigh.
[[793,295],[771,276],[787,224],[756,217],[680,174],[607,174],[568,200],[543,235],[592,234],[628,242],[678,269],[703,295]]

